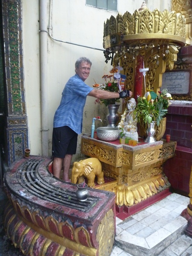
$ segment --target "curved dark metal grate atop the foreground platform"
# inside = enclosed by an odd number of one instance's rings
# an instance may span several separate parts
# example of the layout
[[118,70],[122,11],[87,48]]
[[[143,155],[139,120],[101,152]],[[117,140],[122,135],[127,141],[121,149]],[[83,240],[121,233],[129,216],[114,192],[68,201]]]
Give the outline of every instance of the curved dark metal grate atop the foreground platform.
[[85,202],[79,202],[75,192],[54,186],[43,179],[38,173],[43,161],[44,159],[29,159],[17,169],[16,177],[23,188],[41,199],[83,212],[96,204],[98,197],[89,196]]

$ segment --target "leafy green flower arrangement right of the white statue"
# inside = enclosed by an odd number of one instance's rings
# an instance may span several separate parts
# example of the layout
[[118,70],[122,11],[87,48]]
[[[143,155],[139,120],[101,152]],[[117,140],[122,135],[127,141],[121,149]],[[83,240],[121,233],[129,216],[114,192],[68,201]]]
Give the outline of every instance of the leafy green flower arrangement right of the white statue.
[[142,126],[146,126],[152,121],[156,121],[156,125],[159,126],[161,119],[168,112],[167,108],[171,105],[172,96],[167,92],[167,89],[163,89],[159,95],[152,90],[149,91],[146,93],[147,96],[138,96],[137,105],[133,112],[138,118],[138,123]]

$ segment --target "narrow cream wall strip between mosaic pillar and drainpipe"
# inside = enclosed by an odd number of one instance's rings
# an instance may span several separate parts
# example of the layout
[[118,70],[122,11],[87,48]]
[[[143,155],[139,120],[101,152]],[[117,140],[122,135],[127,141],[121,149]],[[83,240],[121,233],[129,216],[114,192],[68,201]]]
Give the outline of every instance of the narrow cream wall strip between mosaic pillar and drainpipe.
[[41,155],[41,100],[38,0],[23,1],[25,100],[31,154]]

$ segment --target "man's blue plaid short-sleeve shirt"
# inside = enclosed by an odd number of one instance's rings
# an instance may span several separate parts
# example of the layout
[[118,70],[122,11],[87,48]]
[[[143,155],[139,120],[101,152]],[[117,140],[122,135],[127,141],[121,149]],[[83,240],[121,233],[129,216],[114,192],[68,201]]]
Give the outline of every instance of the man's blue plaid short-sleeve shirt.
[[86,97],[92,90],[93,88],[85,84],[77,74],[69,78],[63,89],[60,105],[54,115],[53,127],[67,125],[74,132],[80,134]]

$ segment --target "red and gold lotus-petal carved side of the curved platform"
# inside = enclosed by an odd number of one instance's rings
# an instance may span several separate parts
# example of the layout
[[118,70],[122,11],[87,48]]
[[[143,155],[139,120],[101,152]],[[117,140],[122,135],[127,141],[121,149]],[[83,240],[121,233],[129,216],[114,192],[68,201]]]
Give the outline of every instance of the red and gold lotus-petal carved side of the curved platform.
[[[25,206],[23,213],[26,210],[28,209]],[[36,221],[38,213],[29,214],[29,216],[32,220]],[[32,221],[19,216],[11,204],[8,204],[6,207],[4,226],[7,230],[7,236],[12,241],[12,244],[16,248],[19,247],[25,255],[77,256],[81,254],[87,256],[107,256],[112,250],[115,229],[114,212],[112,209],[107,212],[98,226],[96,239],[99,242],[99,249],[92,247],[89,233],[83,226],[77,227],[74,230],[68,221],[58,223],[51,216],[46,219],[42,218],[41,221],[45,225],[46,230],[39,227],[39,225],[35,225]],[[53,223],[58,227],[58,234],[54,234],[51,230]],[[66,237],[67,233],[68,238]],[[87,246],[82,244],[81,239],[83,236],[86,237]],[[71,237],[74,237],[75,241],[71,241]],[[103,240],[103,237],[105,237],[105,240]],[[108,241],[108,243],[105,243],[105,241]]]

